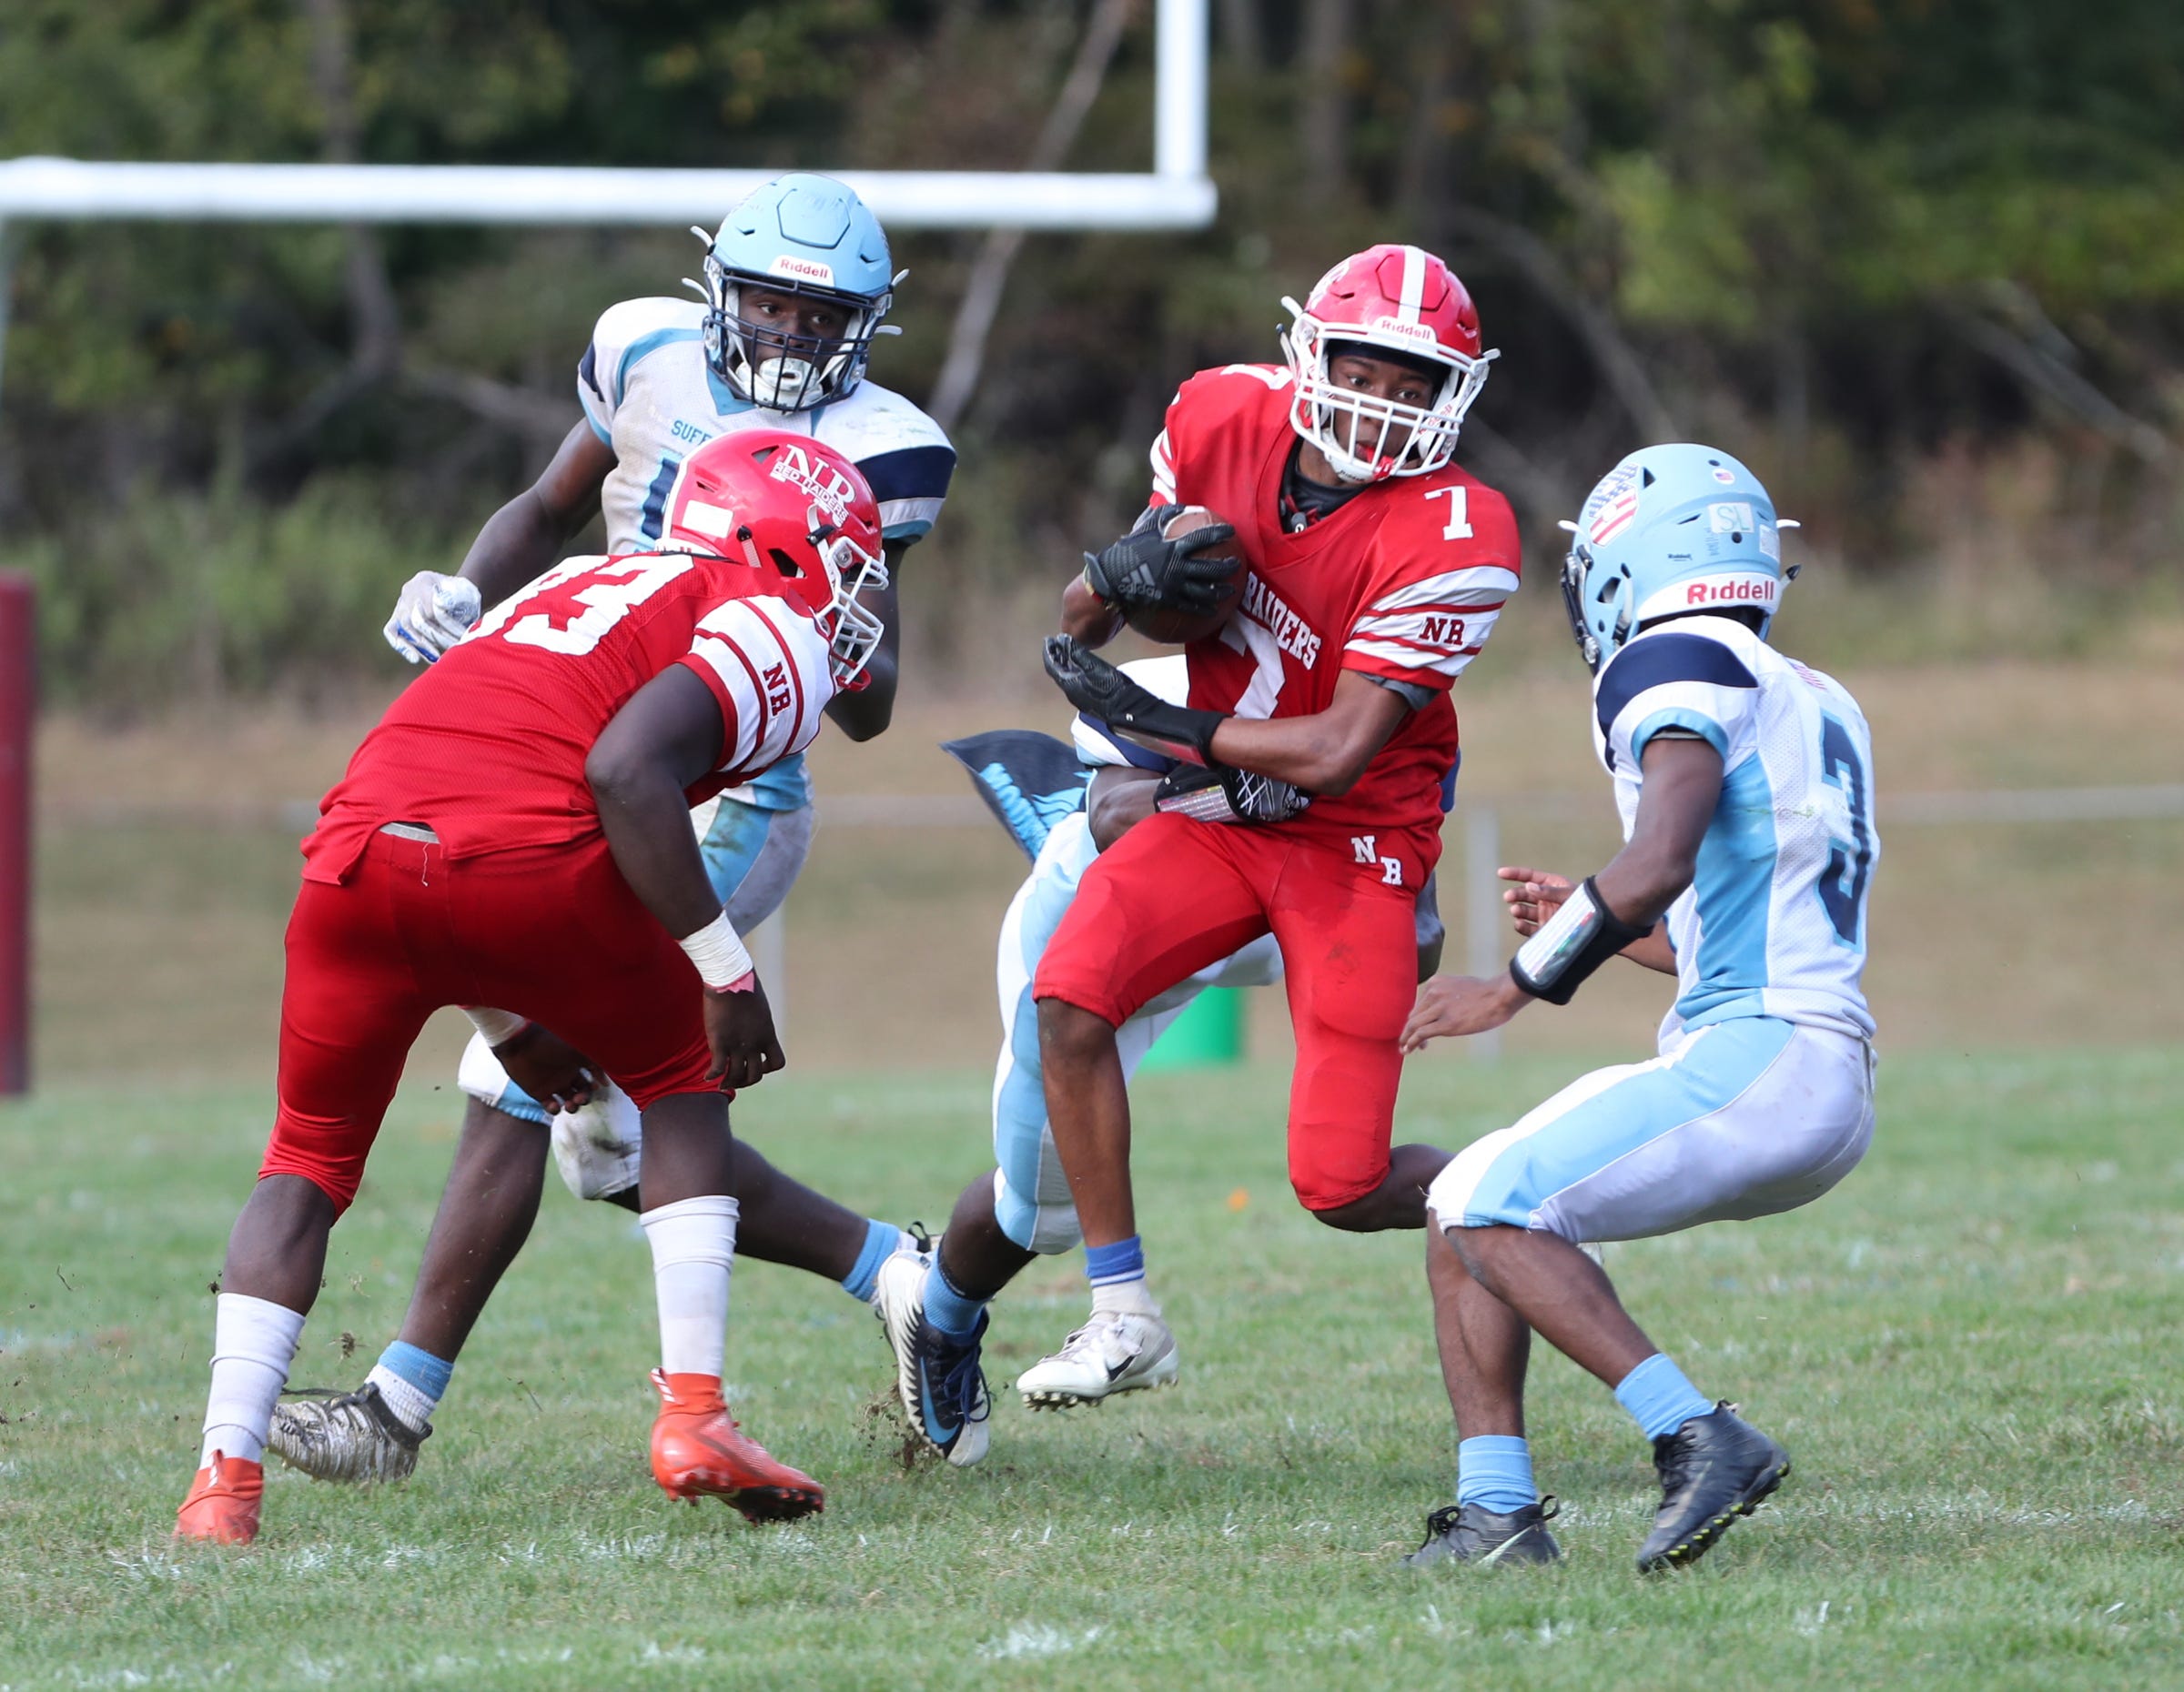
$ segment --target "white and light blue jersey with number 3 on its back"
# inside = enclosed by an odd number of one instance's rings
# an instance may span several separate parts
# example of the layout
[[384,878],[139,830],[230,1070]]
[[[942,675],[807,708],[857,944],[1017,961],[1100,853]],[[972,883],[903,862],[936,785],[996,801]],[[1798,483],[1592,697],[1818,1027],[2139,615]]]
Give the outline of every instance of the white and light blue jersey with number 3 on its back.
[[1734,618],[1640,631],[1601,666],[1592,701],[1625,838],[1655,734],[1701,736],[1723,762],[1697,875],[1669,906],[1677,998],[1662,1037],[1769,1015],[1872,1039],[1859,982],[1880,836],[1859,701]]

